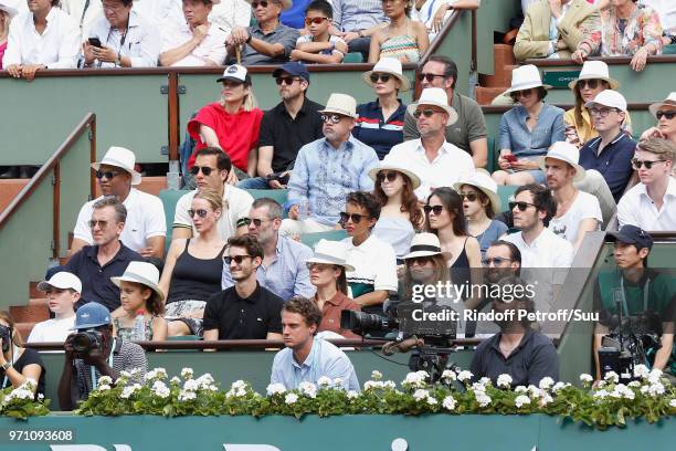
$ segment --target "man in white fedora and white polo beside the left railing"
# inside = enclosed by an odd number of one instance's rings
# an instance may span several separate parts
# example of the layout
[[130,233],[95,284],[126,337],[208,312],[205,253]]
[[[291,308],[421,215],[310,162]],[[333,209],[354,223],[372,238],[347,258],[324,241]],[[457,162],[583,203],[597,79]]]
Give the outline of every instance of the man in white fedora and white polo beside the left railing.
[[[141,176],[134,170],[136,156],[124,147],[110,147],[101,162],[94,162],[96,179],[101,188],[102,199],[115,196],[127,209],[127,221],[120,240],[125,245],[144,256],[161,259],[165,254],[165,237],[167,223],[162,201],[152,195],[133,188],[141,182]],[[71,244],[71,255],[86,244],[93,244],[88,222],[92,219],[94,202],[85,203],[80,210],[74,238]]]

